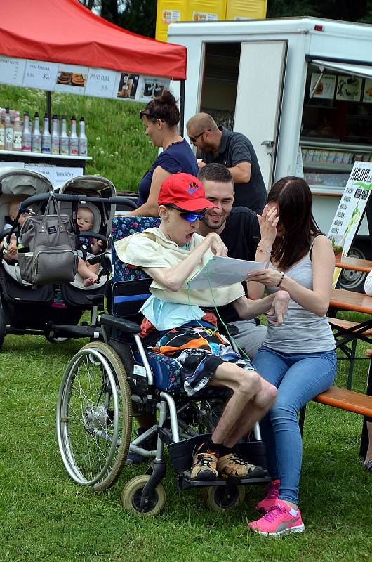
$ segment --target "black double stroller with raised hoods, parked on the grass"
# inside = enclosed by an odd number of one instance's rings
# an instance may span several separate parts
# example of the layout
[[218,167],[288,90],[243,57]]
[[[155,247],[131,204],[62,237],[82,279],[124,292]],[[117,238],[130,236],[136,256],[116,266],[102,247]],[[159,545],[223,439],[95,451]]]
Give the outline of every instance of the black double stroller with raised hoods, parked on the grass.
[[[11,228],[8,208],[15,200],[32,197],[32,211],[44,212],[48,193],[53,186],[48,178],[26,169],[4,168],[0,173],[0,240],[4,240]],[[111,230],[114,203],[109,200],[115,188],[106,178],[81,176],[67,181],[56,195],[63,214],[73,216],[78,205],[86,204],[94,215],[94,232],[89,235],[107,244]],[[91,201],[86,201],[86,200]],[[28,200],[28,199],[27,199]],[[92,202],[92,200],[94,200]],[[76,224],[76,220],[75,220]],[[2,230],[2,232],[1,232]],[[19,226],[15,228],[19,236]],[[2,255],[1,255],[2,257]],[[109,279],[107,265],[99,282],[84,287],[77,275],[70,284],[41,285],[33,288],[20,277],[18,263],[0,262],[0,348],[6,334],[41,334],[48,341],[57,343],[70,337],[100,339],[100,329],[95,326],[99,308],[103,308],[105,290]],[[79,325],[84,311],[91,311],[91,325]]]

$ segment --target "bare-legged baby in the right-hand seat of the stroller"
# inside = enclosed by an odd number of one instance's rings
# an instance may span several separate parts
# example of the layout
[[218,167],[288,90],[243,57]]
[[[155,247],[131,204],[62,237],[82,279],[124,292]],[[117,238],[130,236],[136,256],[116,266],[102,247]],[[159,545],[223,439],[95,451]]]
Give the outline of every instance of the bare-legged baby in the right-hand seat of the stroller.
[[[86,230],[93,230],[94,225],[94,214],[88,207],[79,207],[77,209],[77,226],[79,226],[80,232]],[[93,254],[97,256],[102,251],[102,240],[94,241],[93,238],[87,236],[79,236],[77,238],[77,250],[81,253],[79,256],[79,263],[77,266],[77,272],[83,278],[84,287],[93,285],[98,279],[98,269],[100,264],[96,263],[91,265],[86,261],[88,254]]]

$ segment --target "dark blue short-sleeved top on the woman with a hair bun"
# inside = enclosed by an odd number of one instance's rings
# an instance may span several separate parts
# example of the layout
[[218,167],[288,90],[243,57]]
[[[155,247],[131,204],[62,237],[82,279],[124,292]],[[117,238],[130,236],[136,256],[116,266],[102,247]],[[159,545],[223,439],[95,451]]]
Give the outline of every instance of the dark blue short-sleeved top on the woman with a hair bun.
[[163,152],[159,154],[150,170],[146,172],[145,176],[143,176],[140,181],[137,200],[138,207],[147,202],[152,182],[152,174],[154,174],[154,169],[157,168],[157,166],[161,166],[161,168],[168,171],[169,174],[176,174],[178,171],[185,172],[185,174],[192,174],[192,176],[197,176],[199,174],[197,159],[185,138],[183,141],[169,145],[166,150],[163,150]]

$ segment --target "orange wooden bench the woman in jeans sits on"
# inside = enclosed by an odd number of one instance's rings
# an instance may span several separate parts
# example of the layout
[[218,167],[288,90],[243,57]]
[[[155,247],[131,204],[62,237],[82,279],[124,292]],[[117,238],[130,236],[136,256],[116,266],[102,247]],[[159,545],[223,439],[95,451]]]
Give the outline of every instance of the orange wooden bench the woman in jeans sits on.
[[[354,414],[360,414],[361,416],[372,417],[372,396],[346,390],[339,386],[331,386],[331,388],[328,388],[328,391],[318,394],[312,401],[340,408],[340,410],[346,410],[347,412],[354,412]],[[300,420],[298,422],[301,434],[303,433],[305,411],[306,406],[300,411]]]

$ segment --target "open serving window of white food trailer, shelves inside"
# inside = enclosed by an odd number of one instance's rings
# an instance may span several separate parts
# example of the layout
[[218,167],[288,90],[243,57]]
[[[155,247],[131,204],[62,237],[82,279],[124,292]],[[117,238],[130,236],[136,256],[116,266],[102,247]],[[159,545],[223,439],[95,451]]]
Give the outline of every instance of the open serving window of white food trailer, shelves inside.
[[372,162],[372,81],[309,65],[300,148],[312,192],[341,195],[355,161]]

